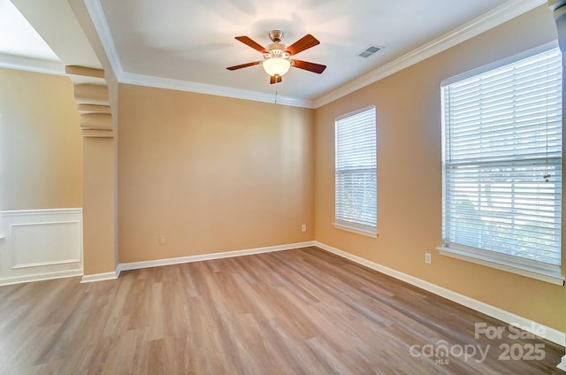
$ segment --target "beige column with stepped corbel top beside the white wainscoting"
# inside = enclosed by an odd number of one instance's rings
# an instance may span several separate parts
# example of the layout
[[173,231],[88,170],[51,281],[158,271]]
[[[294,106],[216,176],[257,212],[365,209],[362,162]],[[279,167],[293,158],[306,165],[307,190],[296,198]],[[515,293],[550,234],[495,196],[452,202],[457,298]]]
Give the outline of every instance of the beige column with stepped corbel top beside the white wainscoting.
[[[115,278],[115,148],[104,71],[67,65],[80,111],[83,163],[83,280]],[[90,277],[90,278],[89,278]]]

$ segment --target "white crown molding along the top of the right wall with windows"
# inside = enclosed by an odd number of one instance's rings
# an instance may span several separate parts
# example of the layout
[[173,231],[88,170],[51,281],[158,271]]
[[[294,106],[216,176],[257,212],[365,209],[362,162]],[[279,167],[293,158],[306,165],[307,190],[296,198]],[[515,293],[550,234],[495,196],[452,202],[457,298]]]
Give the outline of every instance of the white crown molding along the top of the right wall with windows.
[[482,14],[478,18],[470,20],[470,22],[463,24],[461,27],[457,27],[447,34],[441,35],[432,42],[428,42],[416,50],[412,50],[402,57],[394,59],[386,65],[381,65],[370,73],[363,74],[361,77],[351,80],[323,96],[319,96],[313,101],[313,108],[319,108],[327,103],[332,103],[342,96],[347,96],[360,88],[371,85],[371,83],[400,72],[410,65],[415,65],[428,57],[432,57],[461,42],[465,42],[478,34],[485,33],[487,30],[497,27],[510,19],[514,19],[527,11],[531,11],[542,4],[547,4],[547,0],[509,0],[493,10]]

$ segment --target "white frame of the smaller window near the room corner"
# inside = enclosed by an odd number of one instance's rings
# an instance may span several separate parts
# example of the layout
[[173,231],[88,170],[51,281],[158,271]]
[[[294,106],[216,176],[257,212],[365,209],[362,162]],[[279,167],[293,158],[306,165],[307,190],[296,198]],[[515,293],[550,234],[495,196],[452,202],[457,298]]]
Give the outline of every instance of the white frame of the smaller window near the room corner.
[[[347,220],[344,218],[339,218],[339,193],[338,193],[338,173],[337,170],[337,161],[338,161],[338,126],[340,120],[348,119],[358,114],[361,114],[366,111],[373,111],[373,126],[374,126],[374,149],[375,153],[373,155],[375,169],[373,170],[375,176],[375,192],[374,192],[374,200],[375,200],[375,226],[366,225],[361,222],[356,222],[352,220]],[[377,189],[377,180],[378,180],[378,119],[377,119],[377,109],[375,105],[369,105],[363,108],[360,108],[356,111],[350,111],[344,115],[341,115],[334,119],[334,223],[333,226],[337,229],[345,230],[352,233],[362,234],[365,236],[369,236],[372,238],[377,238],[378,230],[377,230],[377,223],[378,223],[378,189]],[[362,168],[367,169],[367,168]],[[362,221],[362,220],[360,220]]]

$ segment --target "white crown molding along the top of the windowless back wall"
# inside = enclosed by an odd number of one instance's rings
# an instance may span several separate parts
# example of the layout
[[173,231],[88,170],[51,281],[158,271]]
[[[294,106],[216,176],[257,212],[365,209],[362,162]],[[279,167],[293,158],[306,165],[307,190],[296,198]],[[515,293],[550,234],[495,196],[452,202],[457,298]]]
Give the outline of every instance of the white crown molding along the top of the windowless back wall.
[[151,88],[169,88],[172,90],[188,91],[214,96],[227,96],[237,99],[246,99],[255,102],[277,103],[294,107],[310,108],[310,101],[290,96],[277,96],[257,91],[242,90],[240,88],[226,88],[224,86],[209,85],[206,83],[190,82],[187,80],[172,80],[170,78],[154,77],[150,75],[122,73],[119,81],[132,85],[149,86]]

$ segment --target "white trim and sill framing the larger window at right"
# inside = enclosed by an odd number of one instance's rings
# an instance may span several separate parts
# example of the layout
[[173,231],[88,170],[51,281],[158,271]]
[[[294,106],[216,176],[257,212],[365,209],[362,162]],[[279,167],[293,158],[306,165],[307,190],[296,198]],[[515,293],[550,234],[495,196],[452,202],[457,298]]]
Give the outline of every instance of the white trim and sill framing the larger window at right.
[[[515,55],[504,57],[500,60],[494,61],[493,63],[480,66],[468,72],[456,74],[453,77],[440,81],[440,100],[441,100],[440,103],[442,103],[441,136],[442,136],[442,160],[443,160],[443,165],[442,165],[443,204],[445,199],[444,196],[446,196],[447,193],[446,183],[445,183],[446,166],[444,165],[444,160],[446,159],[445,142],[446,142],[446,131],[447,131],[445,108],[444,108],[444,103],[445,103],[444,87],[452,83],[455,83],[457,81],[466,80],[470,77],[476,76],[481,73],[487,73],[494,69],[500,68],[503,65],[509,65],[524,58],[532,57],[534,55],[537,55],[547,50],[555,49],[557,47],[558,47],[557,41],[547,42],[530,50],[524,50],[523,52],[517,53]],[[562,105],[563,103],[564,102],[562,100]],[[562,134],[563,134],[563,119],[562,119]],[[562,163],[563,163],[563,155],[562,155]],[[562,180],[562,183],[563,182],[564,181]],[[443,215],[444,215],[444,209],[443,209]],[[442,219],[442,223],[443,223],[442,225],[444,225],[444,218]],[[562,222],[562,226],[563,225],[564,223]],[[531,261],[529,259],[520,258],[518,256],[510,256],[507,254],[502,254],[486,249],[476,249],[462,244],[451,244],[450,242],[444,241],[444,239],[442,239],[442,245],[439,248],[437,248],[437,250],[439,250],[441,256],[450,256],[473,264],[484,265],[493,269],[515,273],[521,276],[525,276],[532,279],[538,279],[540,281],[545,281],[559,286],[563,286],[566,279],[565,276],[562,274],[562,264],[561,265],[542,264],[540,262]],[[563,258],[563,249],[562,249],[562,258]]]

